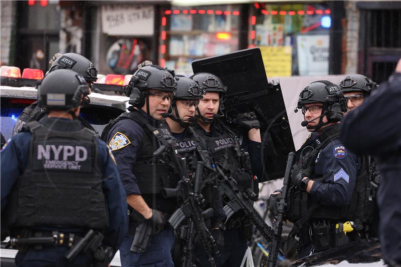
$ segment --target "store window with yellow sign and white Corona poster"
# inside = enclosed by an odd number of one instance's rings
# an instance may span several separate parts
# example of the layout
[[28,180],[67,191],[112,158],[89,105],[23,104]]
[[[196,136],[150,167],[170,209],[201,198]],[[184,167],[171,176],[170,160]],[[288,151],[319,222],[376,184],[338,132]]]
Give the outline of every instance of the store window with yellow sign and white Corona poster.
[[327,75],[332,16],[325,3],[255,3],[249,47],[260,47],[268,77]]

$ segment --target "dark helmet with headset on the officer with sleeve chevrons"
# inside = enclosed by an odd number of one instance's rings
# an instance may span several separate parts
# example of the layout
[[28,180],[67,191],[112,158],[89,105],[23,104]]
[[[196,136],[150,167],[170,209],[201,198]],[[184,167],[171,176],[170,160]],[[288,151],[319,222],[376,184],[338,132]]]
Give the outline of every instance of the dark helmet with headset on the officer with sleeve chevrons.
[[[343,112],[347,111],[344,94],[336,84],[329,81],[316,81],[305,87],[299,95],[297,109],[302,109],[305,104],[313,103],[323,104],[322,114],[318,125],[307,126],[308,129],[319,129],[330,122],[338,122],[341,120]],[[295,112],[298,111],[297,109],[295,109]],[[327,117],[327,123],[322,121],[324,116]]]

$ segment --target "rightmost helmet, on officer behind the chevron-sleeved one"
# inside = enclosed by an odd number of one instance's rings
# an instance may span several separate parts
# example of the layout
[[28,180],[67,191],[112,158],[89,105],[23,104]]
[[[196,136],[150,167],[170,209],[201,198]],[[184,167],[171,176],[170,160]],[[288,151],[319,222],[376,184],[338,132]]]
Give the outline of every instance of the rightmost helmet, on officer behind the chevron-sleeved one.
[[376,89],[376,83],[366,76],[353,74],[348,75],[341,80],[340,88],[344,93],[362,92],[364,95],[369,95],[374,89]]

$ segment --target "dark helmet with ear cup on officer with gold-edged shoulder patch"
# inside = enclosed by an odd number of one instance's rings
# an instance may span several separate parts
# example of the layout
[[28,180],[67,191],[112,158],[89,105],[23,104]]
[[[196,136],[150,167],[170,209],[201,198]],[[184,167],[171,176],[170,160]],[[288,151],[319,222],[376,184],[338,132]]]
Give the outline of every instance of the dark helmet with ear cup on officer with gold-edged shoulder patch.
[[138,69],[124,88],[125,95],[130,98],[128,103],[142,107],[148,95],[146,91],[150,89],[174,93],[177,90],[174,71],[158,65],[145,65]]

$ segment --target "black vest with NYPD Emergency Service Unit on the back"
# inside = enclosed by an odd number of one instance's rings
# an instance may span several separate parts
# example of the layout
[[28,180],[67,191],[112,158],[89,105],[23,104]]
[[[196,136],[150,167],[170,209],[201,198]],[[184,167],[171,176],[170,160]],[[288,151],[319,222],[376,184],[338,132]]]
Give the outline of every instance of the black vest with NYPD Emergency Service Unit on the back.
[[37,121],[23,128],[28,130],[28,164],[9,196],[10,227],[106,229],[109,218],[95,133],[86,128],[51,130]]

